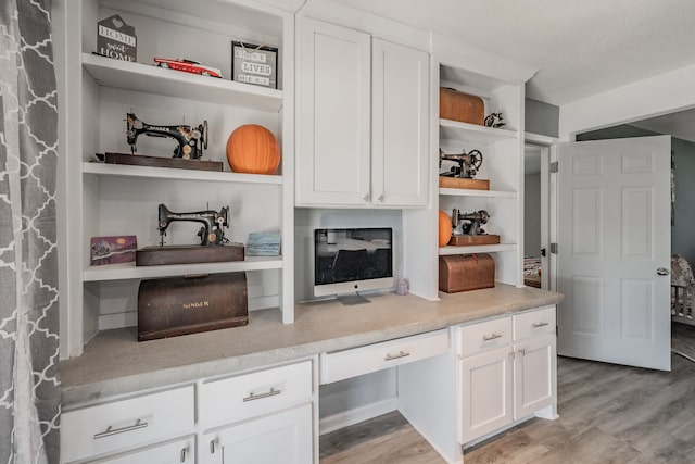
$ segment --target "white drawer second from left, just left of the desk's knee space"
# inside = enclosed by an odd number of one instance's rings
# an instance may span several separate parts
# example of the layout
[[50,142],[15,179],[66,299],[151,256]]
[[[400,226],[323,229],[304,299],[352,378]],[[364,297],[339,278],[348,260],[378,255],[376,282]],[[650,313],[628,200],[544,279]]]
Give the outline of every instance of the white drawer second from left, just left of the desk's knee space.
[[312,399],[312,361],[204,381],[200,390],[203,427],[217,427]]

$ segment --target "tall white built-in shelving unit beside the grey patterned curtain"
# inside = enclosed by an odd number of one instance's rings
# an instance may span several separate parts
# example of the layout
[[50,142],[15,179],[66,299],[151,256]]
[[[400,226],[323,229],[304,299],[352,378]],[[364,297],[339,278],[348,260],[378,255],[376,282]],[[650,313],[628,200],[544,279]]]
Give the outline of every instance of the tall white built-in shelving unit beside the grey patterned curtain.
[[[182,0],[85,0],[65,2],[65,66],[60,89],[64,104],[61,134],[65,160],[67,230],[62,250],[66,264],[61,287],[61,356],[80,355],[84,344],[109,321],[135,321],[141,279],[191,274],[245,272],[249,308],[277,308],[283,323],[294,319],[293,298],[293,151],[294,17],[263,3],[201,0],[191,16]],[[134,26],[137,62],[94,54],[97,23],[114,14]],[[231,42],[277,47],[277,88],[230,79]],[[204,46],[201,46],[204,45]],[[223,77],[162,68],[157,58],[194,59],[218,67]],[[287,57],[288,59],[283,59]],[[129,153],[125,129],[128,112],[161,126],[205,122],[203,160],[223,172],[105,164],[98,153]],[[260,124],[281,147],[276,175],[232,173],[226,142],[232,130]],[[137,140],[137,154],[172,156],[174,138]],[[157,204],[175,212],[229,208],[231,242],[245,243],[252,231],[280,231],[281,256],[247,256],[227,263],[136,266],[90,264],[90,239],[135,235],[138,247],[156,246]],[[166,244],[195,244],[200,224],[173,222]],[[116,316],[114,316],[116,315]],[[108,324],[108,328],[114,328]]]

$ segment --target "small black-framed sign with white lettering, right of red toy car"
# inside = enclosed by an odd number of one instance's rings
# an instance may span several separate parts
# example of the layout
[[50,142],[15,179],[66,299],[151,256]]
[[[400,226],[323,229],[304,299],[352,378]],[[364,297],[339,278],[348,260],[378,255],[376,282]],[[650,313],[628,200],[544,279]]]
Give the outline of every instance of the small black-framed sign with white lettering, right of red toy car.
[[231,42],[231,80],[277,89],[277,67],[276,47]]

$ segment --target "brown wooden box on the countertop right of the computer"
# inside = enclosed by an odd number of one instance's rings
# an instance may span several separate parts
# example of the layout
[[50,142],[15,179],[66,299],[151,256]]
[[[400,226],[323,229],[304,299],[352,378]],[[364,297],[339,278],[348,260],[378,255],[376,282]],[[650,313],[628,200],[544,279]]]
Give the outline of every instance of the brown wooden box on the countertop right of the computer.
[[492,288],[495,262],[488,253],[439,256],[439,289],[446,293]]

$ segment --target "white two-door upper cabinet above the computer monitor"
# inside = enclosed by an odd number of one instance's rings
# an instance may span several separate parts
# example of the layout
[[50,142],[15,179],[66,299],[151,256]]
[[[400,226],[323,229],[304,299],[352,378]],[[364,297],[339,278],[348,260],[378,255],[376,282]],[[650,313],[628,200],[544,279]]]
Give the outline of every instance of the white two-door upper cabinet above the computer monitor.
[[300,17],[299,206],[422,206],[428,54]]

